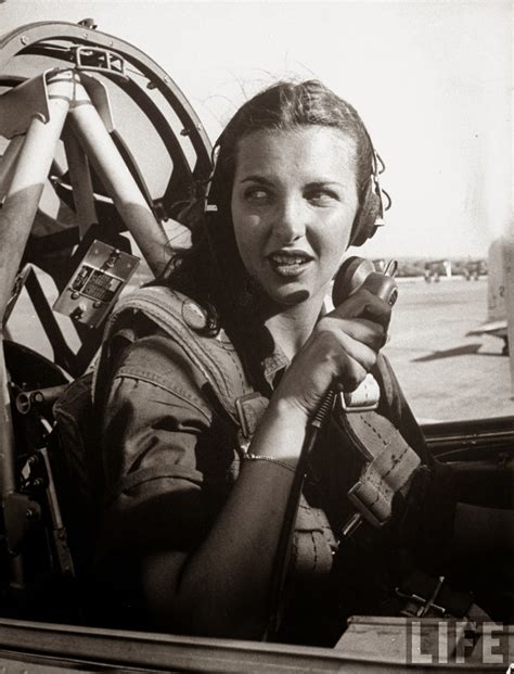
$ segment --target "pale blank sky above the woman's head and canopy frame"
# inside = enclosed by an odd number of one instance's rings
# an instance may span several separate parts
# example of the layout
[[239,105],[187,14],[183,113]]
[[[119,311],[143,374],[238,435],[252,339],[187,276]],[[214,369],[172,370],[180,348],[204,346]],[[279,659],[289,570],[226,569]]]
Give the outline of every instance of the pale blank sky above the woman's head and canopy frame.
[[477,257],[512,227],[512,11],[503,0],[4,0],[0,33],[92,16],[169,73],[213,141],[272,81],[321,79],[357,107],[387,166],[387,226],[360,252]]

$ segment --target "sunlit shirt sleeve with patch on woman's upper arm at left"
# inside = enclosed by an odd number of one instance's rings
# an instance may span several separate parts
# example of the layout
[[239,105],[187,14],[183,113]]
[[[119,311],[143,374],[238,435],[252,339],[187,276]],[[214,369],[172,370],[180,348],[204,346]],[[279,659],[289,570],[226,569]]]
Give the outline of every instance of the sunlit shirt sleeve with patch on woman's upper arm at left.
[[229,422],[166,336],[131,345],[103,410],[103,506],[97,559],[198,545],[233,481]]

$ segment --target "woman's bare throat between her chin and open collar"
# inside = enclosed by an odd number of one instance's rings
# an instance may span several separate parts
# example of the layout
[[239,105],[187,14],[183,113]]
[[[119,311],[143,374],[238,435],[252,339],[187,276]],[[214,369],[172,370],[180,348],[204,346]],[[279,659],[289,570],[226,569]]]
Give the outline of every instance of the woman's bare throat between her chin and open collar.
[[306,343],[320,316],[323,302],[304,302],[295,306],[282,307],[270,314],[265,326],[273,340],[291,360]]

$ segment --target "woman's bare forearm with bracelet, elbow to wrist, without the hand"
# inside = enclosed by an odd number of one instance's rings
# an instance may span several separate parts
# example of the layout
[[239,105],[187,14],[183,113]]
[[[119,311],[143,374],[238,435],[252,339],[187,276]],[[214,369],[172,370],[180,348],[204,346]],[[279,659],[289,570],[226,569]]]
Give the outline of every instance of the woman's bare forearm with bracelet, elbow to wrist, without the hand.
[[[294,467],[304,435],[303,416],[272,400],[250,450]],[[159,626],[210,636],[262,636],[293,478],[292,470],[278,463],[244,462],[224,507],[193,554],[164,551],[142,560],[144,594]]]

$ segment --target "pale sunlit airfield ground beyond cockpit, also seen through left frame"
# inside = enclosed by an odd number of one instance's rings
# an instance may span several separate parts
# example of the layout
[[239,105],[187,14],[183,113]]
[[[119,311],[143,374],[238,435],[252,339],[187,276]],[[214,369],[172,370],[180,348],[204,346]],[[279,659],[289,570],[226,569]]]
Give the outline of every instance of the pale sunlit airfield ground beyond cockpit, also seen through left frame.
[[[137,279],[141,281],[141,279]],[[53,302],[53,282],[42,277]],[[385,354],[421,420],[457,420],[514,414],[509,358],[503,341],[466,336],[487,317],[487,279],[399,279],[390,341]],[[62,317],[69,334],[69,322]],[[22,294],[9,325],[12,338],[51,357],[30,302]],[[72,329],[73,330],[73,329]]]

